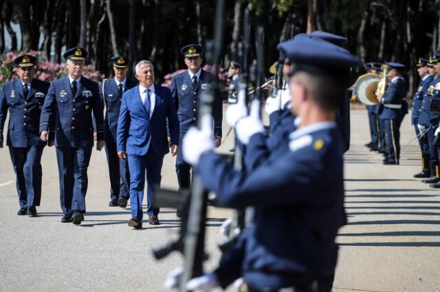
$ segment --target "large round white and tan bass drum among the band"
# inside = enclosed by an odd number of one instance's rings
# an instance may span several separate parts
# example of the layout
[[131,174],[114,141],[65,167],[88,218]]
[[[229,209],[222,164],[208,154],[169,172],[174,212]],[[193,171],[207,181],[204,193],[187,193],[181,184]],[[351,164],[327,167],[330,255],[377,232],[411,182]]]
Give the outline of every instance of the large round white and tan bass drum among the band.
[[380,81],[380,76],[375,73],[360,75],[356,83],[351,86],[351,88],[353,88],[352,99],[358,98],[362,104],[366,104],[367,106],[379,104],[376,97],[376,90]]

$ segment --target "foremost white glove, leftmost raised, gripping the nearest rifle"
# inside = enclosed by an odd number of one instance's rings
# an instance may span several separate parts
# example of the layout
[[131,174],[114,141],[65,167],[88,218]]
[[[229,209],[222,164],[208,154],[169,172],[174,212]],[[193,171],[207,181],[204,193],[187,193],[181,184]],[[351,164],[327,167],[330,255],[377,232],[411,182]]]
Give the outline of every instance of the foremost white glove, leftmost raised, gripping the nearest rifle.
[[201,129],[190,127],[182,142],[182,155],[190,165],[198,165],[201,154],[214,149],[212,138],[212,115],[203,114],[201,117]]

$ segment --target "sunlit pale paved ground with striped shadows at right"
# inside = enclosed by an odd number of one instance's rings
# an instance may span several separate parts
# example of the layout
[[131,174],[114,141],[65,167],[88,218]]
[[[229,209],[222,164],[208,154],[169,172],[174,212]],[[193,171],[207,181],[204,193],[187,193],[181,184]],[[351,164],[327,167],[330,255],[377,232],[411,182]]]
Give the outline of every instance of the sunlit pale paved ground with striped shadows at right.
[[[402,159],[384,166],[367,151],[366,110],[352,110],[346,154],[349,225],[340,230],[334,291],[440,291],[440,199],[412,174],[419,171],[408,116],[401,126]],[[228,128],[224,129],[226,133]],[[225,134],[224,134],[225,135]],[[232,147],[232,135],[221,151]],[[8,149],[0,149],[0,291],[164,291],[166,273],[181,263],[173,254],[157,262],[151,248],[175,238],[174,210],[161,210],[160,226],[131,230],[129,208],[111,208],[104,151],[89,167],[87,214],[80,226],[61,223],[54,148],[43,154],[39,217],[17,216],[19,205]],[[177,188],[175,160],[166,157],[162,185]],[[219,226],[230,210],[209,209],[206,269],[217,265]],[[233,289],[228,289],[233,291]]]

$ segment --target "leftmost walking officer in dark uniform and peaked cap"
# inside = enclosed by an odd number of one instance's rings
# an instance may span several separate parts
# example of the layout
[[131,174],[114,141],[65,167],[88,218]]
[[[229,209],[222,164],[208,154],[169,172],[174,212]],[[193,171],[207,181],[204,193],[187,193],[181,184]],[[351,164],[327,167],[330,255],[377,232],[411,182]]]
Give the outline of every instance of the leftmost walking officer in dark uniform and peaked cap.
[[36,217],[41,199],[41,155],[45,143],[40,140],[40,113],[50,84],[34,79],[36,58],[19,56],[14,60],[19,79],[3,84],[0,93],[0,148],[3,126],[8,125],[9,152],[16,175],[20,210],[18,215]]

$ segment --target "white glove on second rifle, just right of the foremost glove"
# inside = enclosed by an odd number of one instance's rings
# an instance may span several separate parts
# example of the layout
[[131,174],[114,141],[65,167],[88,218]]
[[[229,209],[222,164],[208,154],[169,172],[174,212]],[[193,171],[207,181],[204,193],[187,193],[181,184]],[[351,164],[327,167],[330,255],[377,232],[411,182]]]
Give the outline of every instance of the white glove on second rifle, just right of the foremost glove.
[[248,145],[250,137],[256,133],[264,133],[263,122],[259,117],[260,101],[254,99],[250,106],[250,115],[241,119],[235,126],[235,132],[239,141]]

